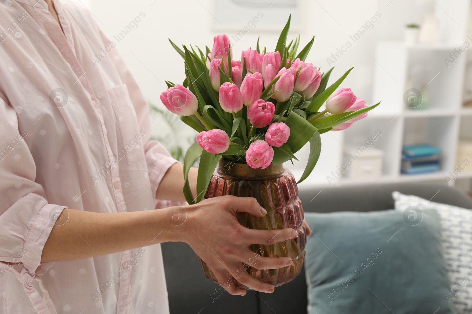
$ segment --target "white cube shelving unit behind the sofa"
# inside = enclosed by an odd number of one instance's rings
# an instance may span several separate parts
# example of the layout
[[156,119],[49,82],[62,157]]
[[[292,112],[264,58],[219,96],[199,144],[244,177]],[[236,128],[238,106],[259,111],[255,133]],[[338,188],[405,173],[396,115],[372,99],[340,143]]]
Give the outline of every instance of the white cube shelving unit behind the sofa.
[[[382,100],[382,104],[351,128],[321,135],[324,147],[319,164],[312,175],[300,184],[301,189],[378,182],[446,183],[445,177],[450,176],[449,171],[456,166],[460,139],[472,137],[472,108],[463,106],[467,58],[463,53],[449,66],[445,62],[445,58],[450,59],[449,54],[466,40],[470,0],[458,0],[454,4],[446,0],[435,2],[438,4],[436,16],[441,25],[438,43],[409,46],[399,41],[378,42],[372,99],[374,102]],[[442,8],[447,8],[447,13]],[[472,45],[471,40],[469,43]],[[425,108],[412,109],[405,105],[404,94],[410,88],[420,90],[423,96],[429,98]],[[338,167],[346,160],[343,157],[345,148],[360,147],[376,130],[382,132],[374,142],[374,147],[384,152],[382,175],[363,180],[347,178],[344,174],[337,176]],[[440,169],[433,173],[401,174],[403,145],[425,143],[442,149]],[[308,153],[307,147],[303,149]],[[299,162],[288,167],[296,178],[301,176],[301,167],[306,163]],[[472,173],[463,172],[459,178],[471,180]]]

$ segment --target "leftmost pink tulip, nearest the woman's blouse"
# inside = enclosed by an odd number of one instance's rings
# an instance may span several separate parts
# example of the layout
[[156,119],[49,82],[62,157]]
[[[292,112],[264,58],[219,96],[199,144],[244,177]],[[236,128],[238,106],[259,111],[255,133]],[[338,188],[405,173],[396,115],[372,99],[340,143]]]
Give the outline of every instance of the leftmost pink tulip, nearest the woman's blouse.
[[170,112],[183,116],[195,114],[198,109],[197,97],[179,84],[162,92],[160,101]]

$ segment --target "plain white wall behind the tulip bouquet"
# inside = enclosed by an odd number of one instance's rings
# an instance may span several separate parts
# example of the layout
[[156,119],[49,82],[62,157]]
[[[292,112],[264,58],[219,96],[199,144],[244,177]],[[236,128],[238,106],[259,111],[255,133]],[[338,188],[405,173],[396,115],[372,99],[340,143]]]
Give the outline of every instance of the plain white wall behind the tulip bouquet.
[[[435,3],[432,0],[301,0],[302,45],[313,35],[315,41],[307,61],[321,67],[329,68],[327,58],[345,45],[349,36],[361,27],[376,12],[381,17],[373,24],[373,28],[365,32],[348,51],[334,64],[332,77],[341,76],[347,69],[354,66],[354,71],[343,83],[350,87],[358,97],[368,103],[377,102],[371,99],[371,86],[375,54],[375,43],[379,39],[403,38],[404,25],[422,21],[423,13],[433,12]],[[159,95],[166,89],[164,80],[175,83],[185,78],[183,60],[170,46],[168,38],[178,45],[194,44],[211,48],[213,36],[220,33],[213,29],[213,0],[91,0],[91,10],[101,21],[106,34],[112,38],[121,32],[135,16],[143,12],[146,16],[138,27],[129,32],[125,39],[118,43],[118,50],[135,75],[145,96],[154,103],[160,103]],[[254,8],[264,14],[263,19],[270,19],[270,12],[264,8]],[[287,17],[290,12],[287,12]],[[225,21],[220,21],[225,24]],[[285,23],[285,20],[282,21]],[[99,23],[100,24],[100,23]],[[242,29],[244,24],[241,25]],[[231,36],[239,29],[228,30]],[[235,58],[240,57],[242,50],[255,47],[257,37],[261,36],[261,46],[268,50],[275,48],[280,29],[268,31],[258,29],[248,32],[233,48]],[[298,32],[291,32],[295,37]],[[352,42],[352,40],[351,40]],[[302,46],[303,47],[303,46]],[[370,56],[369,56],[370,54]],[[373,57],[373,58],[372,58]],[[163,105],[162,105],[163,107]],[[155,132],[165,132],[164,123],[154,123]],[[191,134],[191,129],[186,132]],[[329,139],[328,139],[329,138]],[[334,141],[331,135],[323,136],[323,141]],[[329,146],[329,143],[328,143]],[[322,160],[317,166],[322,167]]]

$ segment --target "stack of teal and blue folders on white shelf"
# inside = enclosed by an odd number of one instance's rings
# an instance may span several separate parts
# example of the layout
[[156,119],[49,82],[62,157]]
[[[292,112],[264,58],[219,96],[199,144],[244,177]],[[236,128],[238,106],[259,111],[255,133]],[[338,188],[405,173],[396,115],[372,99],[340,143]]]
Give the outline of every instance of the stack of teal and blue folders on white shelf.
[[403,146],[402,173],[417,174],[439,169],[442,150],[432,145]]

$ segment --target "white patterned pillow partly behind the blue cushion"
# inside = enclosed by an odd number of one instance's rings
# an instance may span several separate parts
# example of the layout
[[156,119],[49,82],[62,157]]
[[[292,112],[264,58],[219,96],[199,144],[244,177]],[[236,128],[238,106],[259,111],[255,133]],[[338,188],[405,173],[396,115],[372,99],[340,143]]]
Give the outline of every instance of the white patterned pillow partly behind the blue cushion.
[[454,303],[458,314],[472,314],[472,210],[435,203],[399,192],[394,192],[392,195],[395,209],[406,210],[404,217],[409,217],[410,213],[417,214],[410,211],[415,209],[409,208],[410,206],[418,209],[436,209],[442,234],[442,239],[438,241],[445,249],[444,257],[451,284],[451,293],[444,297]]

